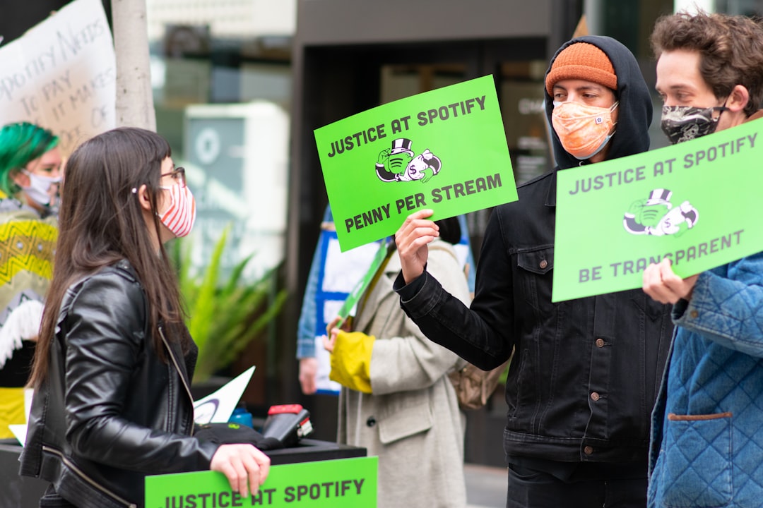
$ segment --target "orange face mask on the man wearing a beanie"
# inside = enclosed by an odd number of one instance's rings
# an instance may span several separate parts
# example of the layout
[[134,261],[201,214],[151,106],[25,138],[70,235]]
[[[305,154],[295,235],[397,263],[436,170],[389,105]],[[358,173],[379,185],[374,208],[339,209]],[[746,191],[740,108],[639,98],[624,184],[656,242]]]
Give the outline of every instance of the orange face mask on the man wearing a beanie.
[[599,153],[614,134],[612,112],[617,104],[597,107],[574,101],[554,102],[551,123],[562,147],[581,161]]

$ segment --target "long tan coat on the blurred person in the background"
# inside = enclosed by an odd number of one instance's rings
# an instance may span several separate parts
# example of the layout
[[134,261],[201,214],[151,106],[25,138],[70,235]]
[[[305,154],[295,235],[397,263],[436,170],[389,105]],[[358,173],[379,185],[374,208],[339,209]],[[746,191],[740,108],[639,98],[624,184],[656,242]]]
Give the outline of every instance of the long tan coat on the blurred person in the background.
[[[392,290],[399,271],[395,253],[356,316],[354,331],[376,337],[373,393],[342,388],[338,441],[378,455],[378,508],[463,508],[465,417],[446,375],[461,360],[424,337],[405,315]],[[430,244],[427,271],[468,303],[466,279],[450,244]]]

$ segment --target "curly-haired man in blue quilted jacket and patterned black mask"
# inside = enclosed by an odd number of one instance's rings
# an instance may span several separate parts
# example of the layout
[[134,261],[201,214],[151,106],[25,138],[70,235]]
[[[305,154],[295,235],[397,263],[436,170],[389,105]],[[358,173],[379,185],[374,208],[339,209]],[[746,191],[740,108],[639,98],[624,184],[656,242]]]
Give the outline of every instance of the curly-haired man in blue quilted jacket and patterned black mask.
[[[673,14],[652,48],[671,142],[763,117],[751,19]],[[763,505],[763,253],[683,280],[653,264],[644,291],[672,303],[678,325],[652,414],[649,506]]]

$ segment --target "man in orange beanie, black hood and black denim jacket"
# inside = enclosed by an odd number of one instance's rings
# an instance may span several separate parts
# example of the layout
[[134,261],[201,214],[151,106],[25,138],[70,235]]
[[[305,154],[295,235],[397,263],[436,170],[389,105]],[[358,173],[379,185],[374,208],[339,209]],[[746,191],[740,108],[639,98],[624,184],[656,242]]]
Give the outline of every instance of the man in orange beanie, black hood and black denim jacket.
[[551,301],[557,171],[649,149],[652,100],[609,37],[565,43],[546,73],[557,167],[491,215],[470,307],[426,270],[431,210],[396,235],[394,288],[423,333],[482,369],[513,353],[506,385],[507,506],[646,505],[649,414],[668,355],[670,307],[641,289]]

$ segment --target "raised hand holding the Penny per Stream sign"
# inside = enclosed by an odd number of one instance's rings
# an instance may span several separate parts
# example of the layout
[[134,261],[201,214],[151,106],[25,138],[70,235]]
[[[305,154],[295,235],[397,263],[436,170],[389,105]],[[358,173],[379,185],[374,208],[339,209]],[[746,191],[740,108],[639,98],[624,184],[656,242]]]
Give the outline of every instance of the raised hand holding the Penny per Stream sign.
[[439,236],[439,226],[427,220],[432,214],[433,211],[429,209],[411,213],[394,234],[406,284],[424,272],[429,257],[427,244]]

